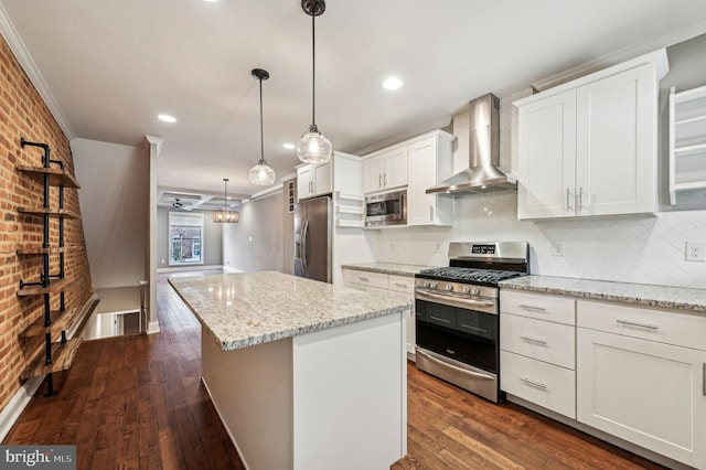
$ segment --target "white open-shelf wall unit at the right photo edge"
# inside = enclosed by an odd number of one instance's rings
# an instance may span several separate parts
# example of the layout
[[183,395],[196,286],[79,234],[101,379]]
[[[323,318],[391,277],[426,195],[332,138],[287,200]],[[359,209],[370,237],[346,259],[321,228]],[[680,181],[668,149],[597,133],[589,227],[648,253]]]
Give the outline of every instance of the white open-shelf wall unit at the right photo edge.
[[706,190],[706,86],[670,94],[670,204]]

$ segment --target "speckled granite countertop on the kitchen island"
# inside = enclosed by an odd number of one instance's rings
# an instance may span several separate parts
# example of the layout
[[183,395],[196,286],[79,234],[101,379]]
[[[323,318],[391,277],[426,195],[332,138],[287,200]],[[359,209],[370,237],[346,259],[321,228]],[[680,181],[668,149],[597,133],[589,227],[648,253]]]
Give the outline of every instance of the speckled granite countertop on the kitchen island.
[[276,271],[171,277],[223,351],[398,313],[409,302]]

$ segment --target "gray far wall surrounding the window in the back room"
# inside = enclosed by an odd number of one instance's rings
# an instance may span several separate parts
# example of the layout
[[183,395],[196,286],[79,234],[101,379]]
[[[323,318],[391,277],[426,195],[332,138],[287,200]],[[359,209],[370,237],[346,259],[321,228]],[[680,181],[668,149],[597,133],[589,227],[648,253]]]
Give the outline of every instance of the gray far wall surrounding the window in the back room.
[[[175,267],[169,266],[169,210],[158,207],[157,210],[157,266],[158,269],[193,269],[193,266]],[[203,235],[203,265],[199,267],[221,266],[223,259],[223,226],[228,224],[217,224],[213,222],[213,215],[208,211],[192,211],[190,213],[204,214]]]

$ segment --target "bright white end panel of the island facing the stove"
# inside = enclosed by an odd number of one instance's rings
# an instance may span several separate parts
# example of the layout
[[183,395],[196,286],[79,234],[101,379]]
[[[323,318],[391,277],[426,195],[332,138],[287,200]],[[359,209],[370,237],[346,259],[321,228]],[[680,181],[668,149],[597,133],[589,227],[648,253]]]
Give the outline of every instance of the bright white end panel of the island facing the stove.
[[293,338],[295,469],[384,469],[406,453],[404,314]]

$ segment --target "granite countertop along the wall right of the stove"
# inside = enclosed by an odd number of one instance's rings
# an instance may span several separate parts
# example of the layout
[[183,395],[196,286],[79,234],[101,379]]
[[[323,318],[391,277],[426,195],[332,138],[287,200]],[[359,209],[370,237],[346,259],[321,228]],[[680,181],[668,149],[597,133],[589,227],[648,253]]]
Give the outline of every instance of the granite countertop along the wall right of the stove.
[[502,289],[556,293],[663,309],[686,310],[706,317],[706,289],[612,282],[553,276],[523,276],[504,280]]

